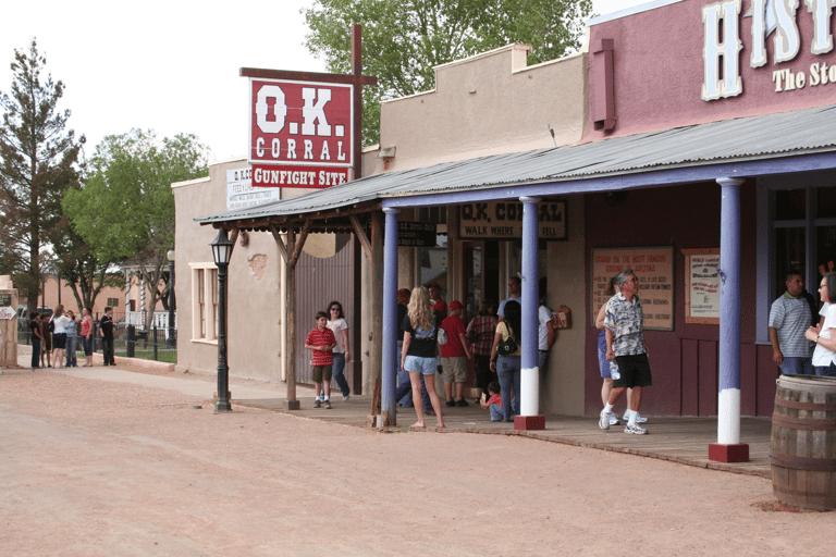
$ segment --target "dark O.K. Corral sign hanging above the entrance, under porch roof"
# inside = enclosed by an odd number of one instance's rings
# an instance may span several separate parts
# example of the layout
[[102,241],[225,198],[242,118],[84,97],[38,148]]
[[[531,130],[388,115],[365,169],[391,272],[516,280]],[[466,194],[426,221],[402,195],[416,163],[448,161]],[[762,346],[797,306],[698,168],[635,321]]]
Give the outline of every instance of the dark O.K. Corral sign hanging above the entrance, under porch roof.
[[[566,239],[566,201],[540,201],[537,220],[541,239]],[[459,209],[459,236],[468,239],[522,237],[522,203],[478,201]]]

